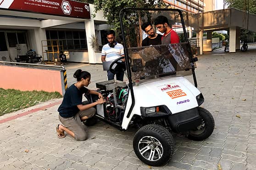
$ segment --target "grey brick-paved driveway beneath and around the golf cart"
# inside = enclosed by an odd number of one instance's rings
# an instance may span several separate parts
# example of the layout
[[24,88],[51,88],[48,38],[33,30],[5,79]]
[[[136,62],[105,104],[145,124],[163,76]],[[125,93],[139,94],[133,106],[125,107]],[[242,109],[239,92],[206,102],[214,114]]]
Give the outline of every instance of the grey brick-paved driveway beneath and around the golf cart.
[[[83,69],[94,70],[93,76],[101,67],[83,65]],[[203,107],[213,114],[215,130],[201,142],[175,135],[175,153],[167,165],[148,167],[136,157],[132,147],[134,129],[120,132],[99,122],[88,128],[86,141],[75,141],[68,136],[56,138],[55,126],[59,123],[56,105],[0,124],[0,169],[218,170],[219,164],[222,170],[255,170],[256,51],[203,55],[197,67],[198,87],[205,97]],[[67,68],[70,77],[74,68],[72,64]],[[105,75],[95,77],[104,79]],[[73,80],[68,78],[68,81]],[[56,101],[61,99],[35,107]]]

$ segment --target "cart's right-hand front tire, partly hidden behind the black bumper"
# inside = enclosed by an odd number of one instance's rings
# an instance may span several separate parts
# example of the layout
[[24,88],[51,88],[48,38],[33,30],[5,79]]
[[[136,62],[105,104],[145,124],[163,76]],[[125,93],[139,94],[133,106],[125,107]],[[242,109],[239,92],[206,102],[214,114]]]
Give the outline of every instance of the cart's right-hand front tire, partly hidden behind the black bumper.
[[188,138],[195,141],[201,141],[209,136],[214,130],[214,119],[209,111],[205,108],[198,107],[200,116],[202,117],[202,124],[196,130],[189,131]]

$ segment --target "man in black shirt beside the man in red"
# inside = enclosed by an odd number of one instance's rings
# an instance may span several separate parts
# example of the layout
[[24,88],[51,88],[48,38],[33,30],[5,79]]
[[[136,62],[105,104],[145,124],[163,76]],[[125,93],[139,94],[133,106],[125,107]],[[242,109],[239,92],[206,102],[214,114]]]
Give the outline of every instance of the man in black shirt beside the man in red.
[[150,22],[143,23],[141,28],[149,35],[142,41],[142,46],[161,45],[162,36],[160,34],[155,33],[155,30]]

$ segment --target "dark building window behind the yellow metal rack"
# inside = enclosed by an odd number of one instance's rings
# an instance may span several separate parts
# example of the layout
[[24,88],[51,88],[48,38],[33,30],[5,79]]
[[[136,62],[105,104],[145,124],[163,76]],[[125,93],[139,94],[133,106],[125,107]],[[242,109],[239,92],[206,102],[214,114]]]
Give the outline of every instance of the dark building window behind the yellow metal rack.
[[[63,50],[88,49],[85,32],[46,30],[47,40],[58,40]],[[63,43],[63,44],[61,44]]]

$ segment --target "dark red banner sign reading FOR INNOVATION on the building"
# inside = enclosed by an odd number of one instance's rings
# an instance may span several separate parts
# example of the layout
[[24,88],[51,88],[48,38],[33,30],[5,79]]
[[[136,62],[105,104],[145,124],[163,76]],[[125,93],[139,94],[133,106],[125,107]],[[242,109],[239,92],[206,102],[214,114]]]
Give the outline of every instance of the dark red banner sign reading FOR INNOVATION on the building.
[[90,19],[89,4],[72,0],[0,0],[0,9]]

